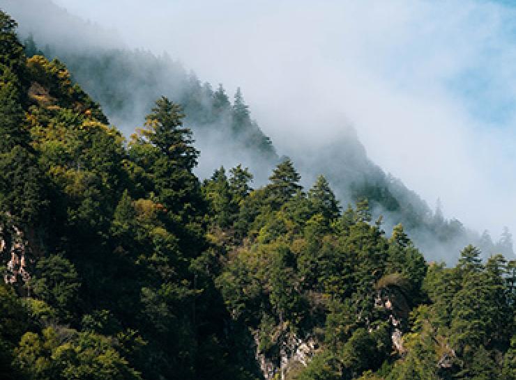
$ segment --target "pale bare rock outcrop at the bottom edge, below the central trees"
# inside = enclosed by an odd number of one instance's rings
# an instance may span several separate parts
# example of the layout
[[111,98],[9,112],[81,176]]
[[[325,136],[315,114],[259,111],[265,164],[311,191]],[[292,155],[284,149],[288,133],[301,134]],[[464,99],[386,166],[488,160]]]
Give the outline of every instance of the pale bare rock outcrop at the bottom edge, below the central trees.
[[319,348],[317,341],[312,337],[301,339],[294,333],[286,333],[283,338],[279,343],[278,356],[269,358],[259,351],[259,338],[257,334],[255,335],[257,347],[255,358],[266,380],[284,380],[287,373],[294,367],[306,366],[310,363]]

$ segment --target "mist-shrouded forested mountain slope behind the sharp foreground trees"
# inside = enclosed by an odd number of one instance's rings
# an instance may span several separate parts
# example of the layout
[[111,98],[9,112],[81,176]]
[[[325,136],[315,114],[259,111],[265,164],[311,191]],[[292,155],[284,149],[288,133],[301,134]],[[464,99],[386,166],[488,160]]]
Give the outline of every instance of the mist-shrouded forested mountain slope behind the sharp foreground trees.
[[[66,63],[73,80],[103,106],[109,121],[126,136],[144,121],[153,100],[161,95],[181,104],[185,124],[192,127],[201,151],[195,169],[200,177],[209,177],[221,165],[242,164],[252,171],[255,185],[261,185],[280,161],[278,154],[284,154],[252,119],[241,90],[233,96],[225,92],[222,84],[203,84],[166,54],[155,56],[126,49],[116,35],[107,31],[102,40],[98,27],[51,1],[2,1],[7,9],[24,17],[26,54],[43,54]],[[54,30],[54,24],[60,27]],[[403,223],[416,246],[433,260],[455,264],[457,252],[469,243],[480,246],[485,259],[492,253],[513,254],[508,230],[493,241],[487,231],[480,235],[457,219],[448,220],[439,206],[432,210],[400,180],[372,163],[356,134],[350,127],[344,129],[349,133],[342,138],[289,152],[303,175],[303,185],[309,187],[318,175],[324,174],[344,205],[367,198],[375,217],[384,216],[389,230]]]

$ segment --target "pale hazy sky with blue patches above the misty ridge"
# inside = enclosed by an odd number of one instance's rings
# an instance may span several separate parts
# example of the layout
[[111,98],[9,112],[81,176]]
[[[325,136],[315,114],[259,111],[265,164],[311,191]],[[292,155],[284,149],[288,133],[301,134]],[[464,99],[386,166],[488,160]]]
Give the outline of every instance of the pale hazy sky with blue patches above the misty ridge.
[[353,125],[373,161],[448,217],[516,232],[510,2],[54,1],[241,86],[280,152]]

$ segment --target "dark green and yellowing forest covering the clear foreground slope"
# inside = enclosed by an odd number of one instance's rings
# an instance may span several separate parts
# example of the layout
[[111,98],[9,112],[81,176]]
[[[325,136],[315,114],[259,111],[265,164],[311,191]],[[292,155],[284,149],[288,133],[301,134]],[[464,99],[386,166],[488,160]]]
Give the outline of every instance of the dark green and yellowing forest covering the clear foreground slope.
[[1,379],[516,379],[512,254],[427,261],[386,191],[342,204],[288,157],[202,179],[191,103],[149,100],[126,138],[16,28],[0,12]]

